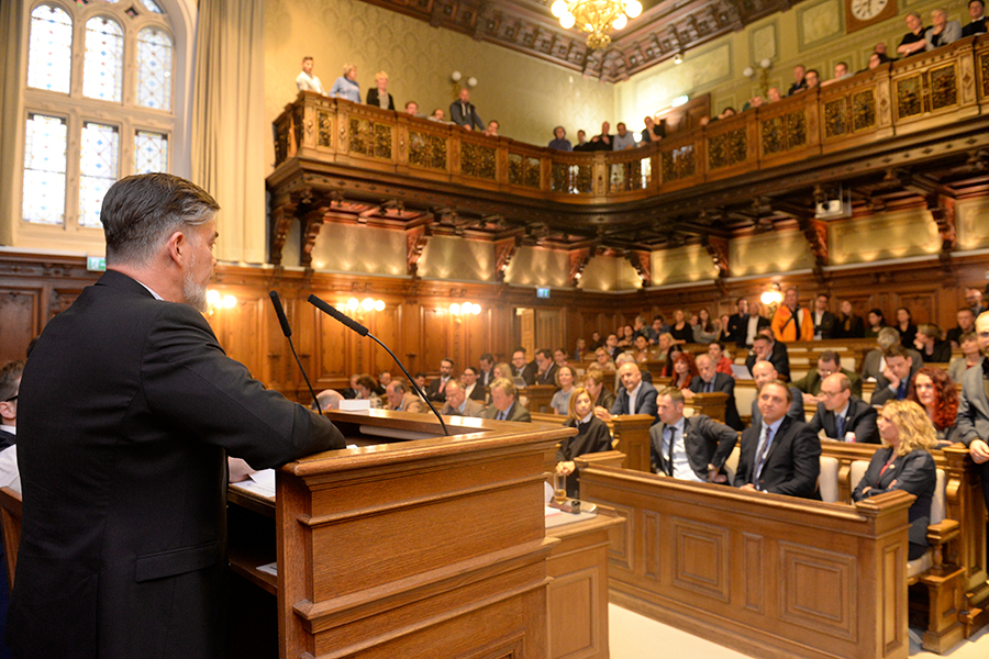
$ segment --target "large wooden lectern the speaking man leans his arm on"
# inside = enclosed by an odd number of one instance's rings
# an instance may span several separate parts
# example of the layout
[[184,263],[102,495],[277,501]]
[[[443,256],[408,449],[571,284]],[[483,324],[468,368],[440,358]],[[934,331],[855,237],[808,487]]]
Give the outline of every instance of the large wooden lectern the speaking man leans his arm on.
[[231,490],[231,565],[276,595],[278,656],[546,657],[544,479],[575,431],[327,416],[356,448],[286,465],[275,502]]

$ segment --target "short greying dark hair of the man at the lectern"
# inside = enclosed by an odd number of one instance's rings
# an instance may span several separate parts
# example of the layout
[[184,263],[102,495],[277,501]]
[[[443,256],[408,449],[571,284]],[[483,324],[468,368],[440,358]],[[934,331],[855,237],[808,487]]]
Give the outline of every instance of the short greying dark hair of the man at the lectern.
[[122,178],[107,191],[100,212],[107,263],[147,265],[176,230],[205,224],[219,210],[209,192],[170,174]]

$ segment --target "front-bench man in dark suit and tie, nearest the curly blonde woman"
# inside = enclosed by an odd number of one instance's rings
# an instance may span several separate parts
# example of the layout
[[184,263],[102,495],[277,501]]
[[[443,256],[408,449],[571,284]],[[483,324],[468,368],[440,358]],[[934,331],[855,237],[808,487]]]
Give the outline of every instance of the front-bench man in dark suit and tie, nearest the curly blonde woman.
[[759,425],[742,433],[735,487],[813,499],[821,472],[821,442],[802,421],[787,416],[792,394],[786,382],[759,389]]

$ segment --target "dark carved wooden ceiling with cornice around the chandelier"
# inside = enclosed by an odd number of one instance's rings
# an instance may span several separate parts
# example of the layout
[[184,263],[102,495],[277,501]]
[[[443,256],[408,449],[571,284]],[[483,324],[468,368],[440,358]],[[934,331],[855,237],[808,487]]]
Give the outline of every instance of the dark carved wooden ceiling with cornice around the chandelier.
[[675,57],[741,30],[799,0],[644,0],[643,12],[612,34],[602,51],[585,35],[564,30],[549,13],[552,0],[364,0],[385,9],[512,48],[605,82]]

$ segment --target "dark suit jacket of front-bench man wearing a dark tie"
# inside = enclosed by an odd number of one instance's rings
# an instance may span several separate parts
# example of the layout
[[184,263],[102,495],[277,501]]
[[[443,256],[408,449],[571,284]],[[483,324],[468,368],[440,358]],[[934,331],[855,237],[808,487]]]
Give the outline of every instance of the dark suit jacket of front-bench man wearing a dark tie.
[[[735,487],[752,482],[760,426],[742,433],[742,451],[735,471]],[[759,474],[759,490],[814,499],[821,473],[821,440],[802,421],[784,417],[769,444],[769,453]]]

